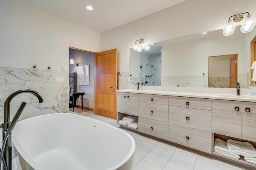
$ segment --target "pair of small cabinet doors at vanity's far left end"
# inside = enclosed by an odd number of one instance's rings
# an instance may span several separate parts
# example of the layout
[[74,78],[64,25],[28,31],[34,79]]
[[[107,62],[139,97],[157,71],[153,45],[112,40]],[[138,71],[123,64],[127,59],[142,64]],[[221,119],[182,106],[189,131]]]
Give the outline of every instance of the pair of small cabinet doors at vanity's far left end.
[[116,110],[117,112],[127,113],[138,116],[138,93],[117,92]]

